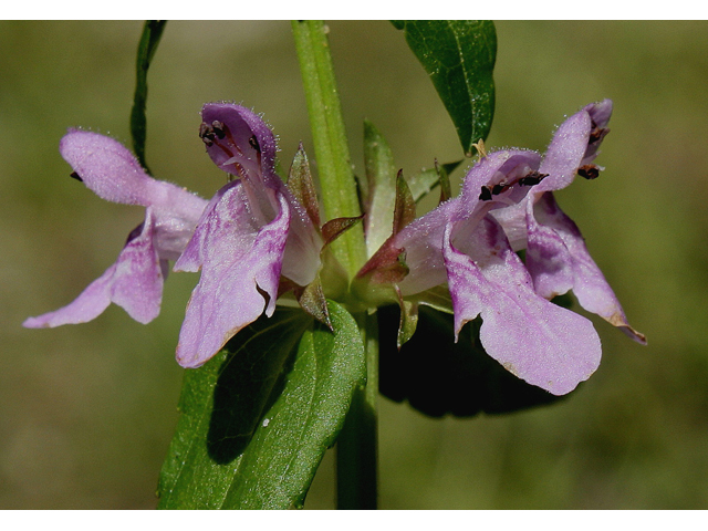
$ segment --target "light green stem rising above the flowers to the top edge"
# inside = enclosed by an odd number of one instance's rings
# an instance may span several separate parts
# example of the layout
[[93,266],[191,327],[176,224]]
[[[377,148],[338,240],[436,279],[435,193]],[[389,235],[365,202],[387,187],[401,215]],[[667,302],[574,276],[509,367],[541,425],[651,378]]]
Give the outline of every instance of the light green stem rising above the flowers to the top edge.
[[[308,101],[326,219],[361,216],[344,118],[334,79],[327,30],[322,21],[293,21],[293,37]],[[332,244],[350,279],[366,260],[364,229],[357,223]]]

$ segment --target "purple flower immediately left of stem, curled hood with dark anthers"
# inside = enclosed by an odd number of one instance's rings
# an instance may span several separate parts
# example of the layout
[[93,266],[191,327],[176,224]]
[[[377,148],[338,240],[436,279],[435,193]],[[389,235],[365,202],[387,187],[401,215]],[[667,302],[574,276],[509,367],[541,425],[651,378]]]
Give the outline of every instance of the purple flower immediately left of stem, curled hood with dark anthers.
[[201,269],[177,346],[184,367],[202,365],[263,312],[272,315],[283,285],[310,284],[322,248],[319,227],[274,171],[275,139],[263,121],[228,103],[205,105],[201,117],[207,153],[237,180],[211,199],[175,264]]

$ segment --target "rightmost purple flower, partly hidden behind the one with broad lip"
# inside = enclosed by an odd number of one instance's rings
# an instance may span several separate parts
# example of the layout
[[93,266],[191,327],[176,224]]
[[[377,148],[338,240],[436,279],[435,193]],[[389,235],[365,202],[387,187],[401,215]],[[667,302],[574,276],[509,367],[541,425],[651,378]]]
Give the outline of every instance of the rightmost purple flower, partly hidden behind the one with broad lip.
[[569,186],[575,175],[594,179],[603,169],[593,164],[610,132],[612,101],[583,107],[556,131],[539,168],[548,174],[518,207],[496,211],[514,249],[527,250],[527,268],[537,293],[546,299],[573,290],[577,302],[638,343],[643,334],[627,323],[620,301],[595,264],[577,226],[558,206],[552,190]]

